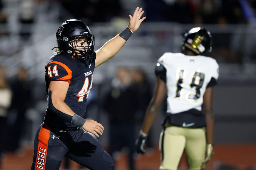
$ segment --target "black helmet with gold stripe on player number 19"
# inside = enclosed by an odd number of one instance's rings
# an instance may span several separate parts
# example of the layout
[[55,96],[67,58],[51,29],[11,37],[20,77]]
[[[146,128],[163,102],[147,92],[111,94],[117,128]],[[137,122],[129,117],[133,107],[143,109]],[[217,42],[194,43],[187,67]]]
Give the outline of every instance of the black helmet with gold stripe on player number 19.
[[202,27],[190,29],[184,35],[182,50],[189,49],[196,55],[204,55],[212,50],[211,33]]

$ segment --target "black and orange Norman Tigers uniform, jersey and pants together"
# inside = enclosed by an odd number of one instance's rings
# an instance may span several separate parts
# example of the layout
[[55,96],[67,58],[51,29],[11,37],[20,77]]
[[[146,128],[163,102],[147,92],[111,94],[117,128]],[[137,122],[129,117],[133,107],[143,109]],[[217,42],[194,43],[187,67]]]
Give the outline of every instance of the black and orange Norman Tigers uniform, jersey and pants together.
[[103,170],[114,166],[113,159],[97,139],[80,127],[65,121],[63,115],[49,109],[50,81],[66,81],[69,83],[69,88],[64,102],[72,111],[85,118],[87,97],[93,82],[95,58],[94,52],[89,65],[68,54],[55,54],[47,61],[45,81],[48,107],[44,122],[35,136],[31,170],[59,169],[64,156],[89,169]]

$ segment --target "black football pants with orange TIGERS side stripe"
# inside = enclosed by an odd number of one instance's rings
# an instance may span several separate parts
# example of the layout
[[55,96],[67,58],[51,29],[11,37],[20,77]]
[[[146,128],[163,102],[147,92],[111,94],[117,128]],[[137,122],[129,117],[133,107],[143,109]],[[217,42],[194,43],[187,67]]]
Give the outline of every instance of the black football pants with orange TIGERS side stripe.
[[64,156],[91,170],[114,166],[101,143],[83,129],[51,130],[41,125],[35,136],[31,170],[58,170]]

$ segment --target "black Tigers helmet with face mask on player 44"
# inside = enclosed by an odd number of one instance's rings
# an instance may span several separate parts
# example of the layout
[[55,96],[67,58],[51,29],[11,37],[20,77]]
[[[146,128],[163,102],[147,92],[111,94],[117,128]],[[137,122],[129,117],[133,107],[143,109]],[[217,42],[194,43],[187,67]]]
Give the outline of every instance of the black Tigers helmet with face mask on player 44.
[[70,19],[63,22],[56,32],[56,39],[57,48],[62,53],[70,54],[83,62],[93,58],[94,35],[81,20]]

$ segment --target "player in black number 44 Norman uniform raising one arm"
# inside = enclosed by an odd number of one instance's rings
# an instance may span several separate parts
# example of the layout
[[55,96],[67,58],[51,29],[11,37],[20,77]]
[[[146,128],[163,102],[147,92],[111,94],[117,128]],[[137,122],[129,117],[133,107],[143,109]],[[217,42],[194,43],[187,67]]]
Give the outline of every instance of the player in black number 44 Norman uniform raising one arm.
[[114,169],[114,161],[97,137],[104,127],[85,120],[86,101],[92,88],[93,71],[113,57],[136,31],[141,22],[142,8],[129,15],[128,27],[94,52],[94,35],[80,20],[67,20],[57,33],[57,54],[45,65],[48,107],[43,124],[34,141],[31,170],[59,169],[64,156],[89,168]]

